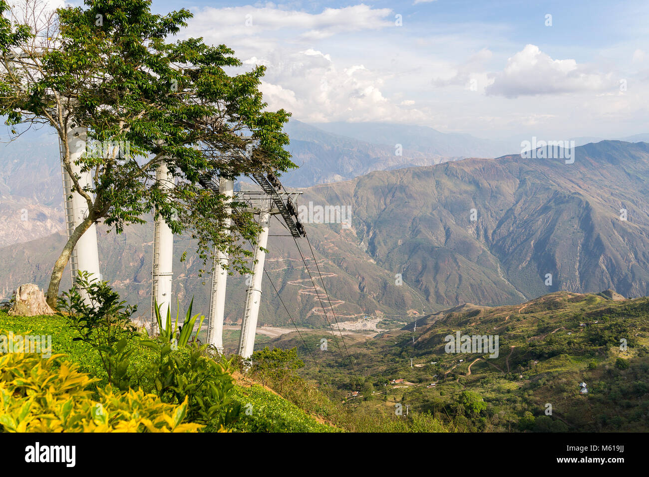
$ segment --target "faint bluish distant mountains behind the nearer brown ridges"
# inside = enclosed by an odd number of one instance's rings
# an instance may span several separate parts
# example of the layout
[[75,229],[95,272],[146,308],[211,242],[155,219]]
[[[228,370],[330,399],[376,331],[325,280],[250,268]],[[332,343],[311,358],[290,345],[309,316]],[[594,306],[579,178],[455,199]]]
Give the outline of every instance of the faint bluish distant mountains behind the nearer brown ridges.
[[[288,150],[299,169],[290,171],[286,186],[306,187],[349,180],[370,171],[432,165],[454,160],[439,154],[406,150],[395,154],[394,146],[375,145],[324,132],[291,120]],[[50,128],[27,130],[15,141],[0,143],[0,247],[21,243],[64,230],[62,179],[58,139]],[[25,210],[36,221],[25,221]]]

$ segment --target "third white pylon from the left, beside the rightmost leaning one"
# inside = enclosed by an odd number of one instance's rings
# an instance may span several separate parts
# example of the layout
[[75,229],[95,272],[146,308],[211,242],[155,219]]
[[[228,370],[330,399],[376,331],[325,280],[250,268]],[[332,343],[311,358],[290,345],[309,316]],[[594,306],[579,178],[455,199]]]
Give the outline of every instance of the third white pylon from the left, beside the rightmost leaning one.
[[[228,197],[228,202],[234,197],[234,181],[219,180],[219,192]],[[227,206],[227,217],[223,221],[223,228],[230,233],[230,213],[232,208]],[[226,252],[214,249],[214,272],[212,272],[212,293],[210,294],[210,321],[208,321],[207,342],[214,345],[219,354],[223,354],[223,316],[225,315],[225,285],[228,271],[223,267],[227,266],[230,258]]]

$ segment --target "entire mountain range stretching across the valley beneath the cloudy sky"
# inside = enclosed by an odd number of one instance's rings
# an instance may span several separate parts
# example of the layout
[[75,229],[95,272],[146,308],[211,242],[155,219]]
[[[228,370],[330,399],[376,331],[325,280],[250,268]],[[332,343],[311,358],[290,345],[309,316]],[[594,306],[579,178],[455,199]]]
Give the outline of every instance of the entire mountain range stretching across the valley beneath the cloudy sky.
[[[432,162],[406,167],[406,162],[386,162],[395,157],[389,155],[394,153],[391,147],[373,149],[376,145],[297,121],[289,128],[295,151],[302,157],[312,151],[312,164],[300,167],[302,174],[312,176],[311,184],[316,177],[331,175],[339,164],[352,164],[349,154],[341,151],[376,158],[373,165],[359,159],[359,168],[347,172],[350,176],[363,167],[390,169],[304,188],[300,197],[303,206],[341,206],[351,213],[349,228],[340,223],[306,224],[339,321],[380,316],[407,323],[417,315],[467,302],[516,304],[559,290],[611,288],[625,297],[649,294],[646,143],[589,143],[575,149],[573,164],[519,154],[452,161],[447,157],[437,163],[441,156],[421,151],[408,156],[404,146],[404,155],[397,156],[400,160],[415,160],[421,154],[424,162]],[[43,143],[33,141],[22,155],[18,143],[12,143],[6,149],[13,147],[14,155],[3,154],[3,162],[10,165],[0,175],[0,213],[9,218],[0,234],[4,240],[0,245],[5,245],[0,260],[12,265],[0,269],[0,299],[8,299],[20,283],[45,286],[64,243],[58,158],[51,152],[43,154],[56,142]],[[330,164],[315,153],[326,147]],[[373,151],[378,152],[372,156]],[[290,184],[290,177],[282,178],[284,184]],[[293,177],[309,183],[306,175]],[[30,180],[36,186],[29,185]],[[25,209],[28,218],[22,220]],[[620,218],[622,210],[626,220]],[[104,278],[148,315],[153,224],[130,226],[119,236],[100,226],[98,234]],[[328,326],[334,313],[328,310],[325,315],[322,310],[325,294],[309,243],[299,241],[318,293],[296,244],[282,234],[282,226],[273,223],[275,236],[269,239],[266,262],[269,276],[295,323]],[[191,254],[194,244],[189,238],[176,238],[175,244],[175,296],[185,303],[195,295],[196,309],[206,313],[210,276],[199,276],[201,263]],[[188,251],[184,262],[182,251]],[[67,276],[62,287],[69,286]],[[227,321],[236,323],[245,300],[245,277],[229,280],[232,306]],[[262,301],[260,324],[289,324],[284,306],[266,281],[264,293],[268,298]],[[326,300],[324,304],[329,308]]]

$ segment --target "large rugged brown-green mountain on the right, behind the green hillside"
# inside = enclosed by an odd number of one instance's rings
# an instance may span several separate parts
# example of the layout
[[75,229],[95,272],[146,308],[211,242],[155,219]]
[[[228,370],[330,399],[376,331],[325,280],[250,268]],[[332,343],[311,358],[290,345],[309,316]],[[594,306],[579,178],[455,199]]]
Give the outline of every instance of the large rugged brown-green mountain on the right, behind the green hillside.
[[375,172],[307,197],[349,204],[354,239],[430,304],[491,305],[558,290],[647,295],[648,180],[648,144],[602,141],[576,148],[574,164],[466,159]]

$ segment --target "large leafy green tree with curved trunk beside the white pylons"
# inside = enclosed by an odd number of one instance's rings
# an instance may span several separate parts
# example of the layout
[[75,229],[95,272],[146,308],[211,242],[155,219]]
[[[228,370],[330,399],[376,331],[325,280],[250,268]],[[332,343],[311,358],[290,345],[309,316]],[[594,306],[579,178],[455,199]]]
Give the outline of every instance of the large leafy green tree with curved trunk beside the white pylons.
[[[5,38],[0,31],[6,40],[0,114],[8,125],[55,129],[73,190],[88,204],[88,216],[53,267],[48,304],[55,306],[71,252],[93,223],[120,233],[126,225],[145,223],[147,213],[162,217],[175,234],[197,239],[203,265],[217,247],[232,256],[233,269],[249,272],[251,252],[243,243],[254,242],[258,231],[252,214],[243,204],[231,204],[232,226],[222,230],[226,197],[202,189],[199,179],[280,175],[295,167],[282,132],[290,114],[266,111],[258,90],[265,68],[228,75],[241,62],[225,45],[206,45],[201,38],[168,42],[187,26],[188,10],[160,16],[151,13],[150,0],[85,0],[84,7],[60,8],[43,22],[29,15],[41,0],[25,1],[28,14],[11,12],[23,34]],[[76,163],[82,173],[92,173],[90,186],[73,173],[74,127],[88,128],[88,138],[101,144],[86,149]],[[162,162],[174,188],[156,181]]]

